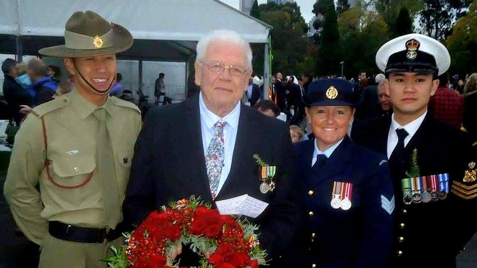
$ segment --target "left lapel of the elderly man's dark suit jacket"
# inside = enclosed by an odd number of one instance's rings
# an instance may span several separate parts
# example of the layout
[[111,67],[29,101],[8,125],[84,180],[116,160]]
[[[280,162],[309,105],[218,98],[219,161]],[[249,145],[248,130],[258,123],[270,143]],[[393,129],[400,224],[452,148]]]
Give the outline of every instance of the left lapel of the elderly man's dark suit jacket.
[[[205,165],[205,156],[204,149],[202,145],[202,131],[200,124],[200,110],[199,110],[199,95],[196,94],[194,97],[186,101],[186,129],[184,131],[187,137],[184,137],[183,141],[187,144],[186,148],[189,148],[186,155],[190,155],[189,166],[185,168],[196,167],[199,169],[199,174],[201,174],[199,180],[199,185],[203,189],[197,189],[196,192],[208,193],[207,199],[210,199],[212,194],[209,186],[209,178],[207,176],[207,167]],[[187,178],[184,178],[187,179]],[[190,178],[194,179],[194,178]],[[203,196],[202,198],[206,198]],[[205,200],[207,200],[205,199]]]

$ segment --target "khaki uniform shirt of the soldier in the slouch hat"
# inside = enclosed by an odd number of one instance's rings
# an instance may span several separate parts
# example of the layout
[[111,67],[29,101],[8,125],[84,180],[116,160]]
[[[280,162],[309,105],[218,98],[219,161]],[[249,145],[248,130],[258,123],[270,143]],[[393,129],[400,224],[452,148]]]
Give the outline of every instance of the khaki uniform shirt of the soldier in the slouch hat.
[[[122,204],[129,179],[133,147],[141,127],[139,109],[116,97],[108,97],[106,109],[109,136]],[[7,178],[5,198],[22,232],[41,244],[48,221],[61,221],[81,227],[105,226],[104,193],[99,175],[93,172],[84,186],[67,189],[55,186],[50,174],[63,186],[79,185],[96,166],[96,129],[98,121],[92,112],[98,107],[76,90],[56,100],[35,107],[23,122],[15,138]],[[47,153],[43,143],[40,117],[44,118]],[[113,175],[114,176],[114,175]],[[40,192],[36,186],[40,185]]]

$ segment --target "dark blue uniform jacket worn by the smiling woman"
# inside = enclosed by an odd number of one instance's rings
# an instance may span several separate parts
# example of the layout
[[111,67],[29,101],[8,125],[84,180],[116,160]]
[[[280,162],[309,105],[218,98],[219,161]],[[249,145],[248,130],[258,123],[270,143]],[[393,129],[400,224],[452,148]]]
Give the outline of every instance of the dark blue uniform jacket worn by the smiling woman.
[[[304,262],[297,267],[385,267],[394,215],[386,158],[353,144],[346,136],[314,173],[314,142],[311,139],[294,146],[304,222],[294,245],[298,250],[291,257]],[[353,184],[349,210],[330,205],[335,181]]]

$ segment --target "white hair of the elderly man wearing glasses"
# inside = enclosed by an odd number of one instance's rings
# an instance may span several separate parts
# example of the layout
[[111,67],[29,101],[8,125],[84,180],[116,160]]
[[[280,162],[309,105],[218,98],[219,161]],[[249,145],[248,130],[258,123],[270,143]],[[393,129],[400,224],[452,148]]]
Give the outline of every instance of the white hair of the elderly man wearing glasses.
[[202,37],[197,43],[197,56],[195,57],[195,61],[201,62],[204,60],[205,51],[213,41],[223,41],[239,45],[245,52],[247,67],[252,67],[252,49],[250,48],[250,44],[239,33],[231,30],[215,30]]

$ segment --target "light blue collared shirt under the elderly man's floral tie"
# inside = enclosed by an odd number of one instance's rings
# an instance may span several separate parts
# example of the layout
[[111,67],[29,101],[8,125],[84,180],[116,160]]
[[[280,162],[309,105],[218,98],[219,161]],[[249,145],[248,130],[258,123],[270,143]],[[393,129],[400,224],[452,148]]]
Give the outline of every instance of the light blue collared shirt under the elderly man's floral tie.
[[[237,130],[239,128],[240,118],[240,102],[235,105],[234,109],[223,118],[220,118],[215,113],[211,112],[204,103],[202,92],[199,93],[199,110],[200,110],[200,129],[202,131],[202,146],[204,149],[204,156],[207,155],[207,148],[215,135],[214,124],[220,119],[227,122],[223,128],[224,134],[224,166],[220,174],[220,181],[218,183],[217,194],[224,185],[230,173],[232,166],[232,157],[234,156],[235,141],[237,139]],[[204,159],[205,161],[205,159]]]

